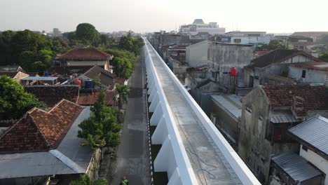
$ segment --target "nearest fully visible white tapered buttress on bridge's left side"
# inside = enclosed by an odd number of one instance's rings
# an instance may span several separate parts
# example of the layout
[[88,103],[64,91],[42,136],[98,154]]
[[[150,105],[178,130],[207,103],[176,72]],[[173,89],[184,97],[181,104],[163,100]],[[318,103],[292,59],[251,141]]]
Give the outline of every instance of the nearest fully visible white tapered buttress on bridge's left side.
[[155,160],[153,161],[153,170],[154,172],[167,172],[168,171],[168,160],[170,159],[170,136],[166,137],[165,142],[162,147],[160,147],[160,151],[158,152]]

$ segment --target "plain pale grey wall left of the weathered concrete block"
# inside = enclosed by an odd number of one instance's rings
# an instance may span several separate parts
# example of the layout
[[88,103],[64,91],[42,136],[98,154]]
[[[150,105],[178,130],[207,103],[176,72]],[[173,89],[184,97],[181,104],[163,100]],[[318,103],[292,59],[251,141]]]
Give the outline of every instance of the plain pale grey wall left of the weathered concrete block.
[[190,67],[207,64],[208,41],[201,41],[186,47],[186,62]]

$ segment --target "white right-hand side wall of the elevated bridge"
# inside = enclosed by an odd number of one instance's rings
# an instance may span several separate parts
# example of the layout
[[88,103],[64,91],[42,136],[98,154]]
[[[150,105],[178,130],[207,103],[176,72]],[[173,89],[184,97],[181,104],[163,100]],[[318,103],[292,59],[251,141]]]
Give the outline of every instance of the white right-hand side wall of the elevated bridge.
[[199,107],[197,102],[193,100],[193,97],[191,97],[188,91],[179,82],[175,74],[172,73],[172,71],[165,64],[160,55],[158,55],[158,53],[156,53],[156,55],[158,57],[158,60],[162,62],[165,70],[168,71],[169,77],[172,78],[172,81],[174,81],[177,88],[179,88],[186,102],[188,102],[191,109],[193,109],[194,113],[199,118],[199,120],[201,121],[201,123],[209,133],[210,137],[217,145],[217,147],[220,149],[221,153],[224,155],[229,165],[231,165],[232,169],[234,170],[235,174],[237,174],[240,181],[242,181],[243,184],[260,184],[254,174],[247,167],[247,165],[245,165],[244,161],[242,161],[242,159],[238,156],[238,153],[236,153],[230,146],[230,144],[228,144],[224,136],[221,135],[221,132],[217,130],[212,121],[210,121],[210,118],[206,116],[206,114]]

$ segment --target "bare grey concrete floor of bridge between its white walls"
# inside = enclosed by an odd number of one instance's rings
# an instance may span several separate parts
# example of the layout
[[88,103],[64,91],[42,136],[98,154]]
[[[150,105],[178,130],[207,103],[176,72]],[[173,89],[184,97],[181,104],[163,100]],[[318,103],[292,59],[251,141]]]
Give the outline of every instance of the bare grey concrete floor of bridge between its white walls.
[[148,48],[198,184],[241,184],[188,102],[168,76],[163,63],[158,60],[151,46]]

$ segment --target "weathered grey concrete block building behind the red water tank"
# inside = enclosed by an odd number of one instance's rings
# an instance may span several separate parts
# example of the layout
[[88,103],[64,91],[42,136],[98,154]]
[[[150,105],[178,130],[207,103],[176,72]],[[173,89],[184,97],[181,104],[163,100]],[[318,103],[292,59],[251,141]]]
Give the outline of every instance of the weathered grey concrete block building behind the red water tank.
[[[250,64],[252,56],[251,45],[210,42],[207,55],[210,79],[224,90],[233,90],[236,84],[242,85],[242,69]],[[232,68],[237,76],[231,75]]]

